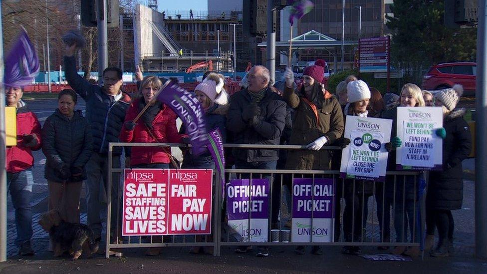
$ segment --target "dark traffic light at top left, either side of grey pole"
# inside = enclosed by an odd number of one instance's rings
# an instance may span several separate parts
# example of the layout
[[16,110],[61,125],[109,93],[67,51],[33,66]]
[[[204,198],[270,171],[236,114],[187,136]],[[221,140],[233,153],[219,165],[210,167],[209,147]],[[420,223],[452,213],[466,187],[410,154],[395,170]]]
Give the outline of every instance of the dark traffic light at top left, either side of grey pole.
[[[100,0],[103,1],[103,0]],[[119,25],[119,0],[107,1],[107,26],[118,27]],[[97,26],[97,5],[96,0],[81,0],[81,22],[84,26]]]

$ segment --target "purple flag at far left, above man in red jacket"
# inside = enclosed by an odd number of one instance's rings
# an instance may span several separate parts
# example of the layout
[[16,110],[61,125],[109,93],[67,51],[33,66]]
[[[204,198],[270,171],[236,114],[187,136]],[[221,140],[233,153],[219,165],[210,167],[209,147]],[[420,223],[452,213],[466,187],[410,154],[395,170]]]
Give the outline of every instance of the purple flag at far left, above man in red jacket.
[[22,28],[17,41],[5,59],[5,86],[22,87],[31,84],[39,73],[39,58],[35,48]]

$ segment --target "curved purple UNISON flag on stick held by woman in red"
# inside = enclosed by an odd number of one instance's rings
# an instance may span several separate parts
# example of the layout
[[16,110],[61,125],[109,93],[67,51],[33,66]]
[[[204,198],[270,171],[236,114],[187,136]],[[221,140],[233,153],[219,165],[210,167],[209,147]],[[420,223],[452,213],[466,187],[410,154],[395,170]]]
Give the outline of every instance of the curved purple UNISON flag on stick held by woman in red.
[[157,99],[167,104],[186,126],[186,132],[191,138],[193,155],[198,156],[206,151],[208,135],[204,117],[204,110],[194,93],[180,87],[171,81],[163,86]]

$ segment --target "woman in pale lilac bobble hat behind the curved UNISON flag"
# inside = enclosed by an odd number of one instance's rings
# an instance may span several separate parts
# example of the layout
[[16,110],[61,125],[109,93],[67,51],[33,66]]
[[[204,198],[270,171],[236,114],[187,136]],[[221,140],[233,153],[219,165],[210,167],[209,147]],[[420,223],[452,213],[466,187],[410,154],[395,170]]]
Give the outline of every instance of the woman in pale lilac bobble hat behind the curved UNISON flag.
[[[224,89],[224,77],[218,73],[210,73],[208,76],[198,84],[195,88],[196,98],[200,101],[205,110],[206,129],[208,131],[219,129],[222,133],[222,139],[225,143],[227,139],[227,112],[228,112],[228,98],[229,95]],[[182,168],[199,168],[199,169],[215,169],[215,162],[209,151],[194,156],[191,151],[186,152],[183,158]],[[203,237],[197,236],[196,240],[201,242]],[[213,241],[213,235],[206,238],[207,241]],[[209,247],[193,247],[190,253],[204,253],[213,254],[213,248]]]

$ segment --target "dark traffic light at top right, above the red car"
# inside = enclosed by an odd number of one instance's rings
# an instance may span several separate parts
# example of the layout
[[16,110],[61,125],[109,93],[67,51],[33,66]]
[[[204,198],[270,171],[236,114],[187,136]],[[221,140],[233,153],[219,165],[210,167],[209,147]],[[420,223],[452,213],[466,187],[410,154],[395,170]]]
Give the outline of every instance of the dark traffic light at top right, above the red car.
[[458,28],[477,25],[477,4],[478,0],[445,0],[445,26]]

